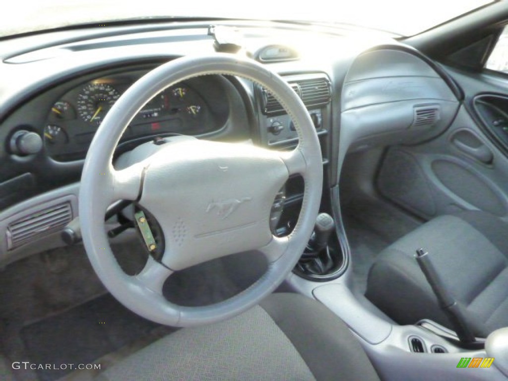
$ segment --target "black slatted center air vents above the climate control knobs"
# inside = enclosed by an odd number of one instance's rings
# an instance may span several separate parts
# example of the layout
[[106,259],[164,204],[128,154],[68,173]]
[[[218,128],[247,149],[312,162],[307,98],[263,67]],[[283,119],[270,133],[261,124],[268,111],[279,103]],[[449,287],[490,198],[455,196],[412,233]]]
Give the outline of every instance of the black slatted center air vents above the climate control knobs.
[[[330,81],[326,77],[290,80],[289,85],[296,91],[308,109],[325,106],[330,103],[332,98]],[[262,110],[265,115],[285,113],[280,103],[268,90],[262,88],[261,93]]]

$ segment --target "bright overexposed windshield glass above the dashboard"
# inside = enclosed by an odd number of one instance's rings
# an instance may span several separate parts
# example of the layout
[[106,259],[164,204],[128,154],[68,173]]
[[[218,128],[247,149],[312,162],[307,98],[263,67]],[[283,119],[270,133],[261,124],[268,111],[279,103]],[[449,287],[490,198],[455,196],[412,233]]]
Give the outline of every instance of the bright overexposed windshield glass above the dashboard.
[[195,17],[353,24],[412,36],[490,0],[15,0],[0,13],[0,36],[83,23]]

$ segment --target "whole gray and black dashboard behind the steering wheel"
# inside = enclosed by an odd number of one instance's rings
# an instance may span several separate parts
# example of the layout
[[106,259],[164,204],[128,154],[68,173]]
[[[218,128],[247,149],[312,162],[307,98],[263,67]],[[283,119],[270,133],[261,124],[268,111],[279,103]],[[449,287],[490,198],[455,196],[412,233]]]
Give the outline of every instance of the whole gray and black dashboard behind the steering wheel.
[[[270,66],[307,107],[322,148],[324,199],[338,184],[347,151],[418,143],[440,134],[456,113],[446,75],[385,35],[224,24],[242,30],[239,54]],[[77,217],[84,158],[108,110],[158,65],[214,54],[209,26],[62,30],[0,44],[0,262],[62,244],[56,237]],[[155,94],[126,126],[114,161],[173,135],[277,150],[298,144],[290,116],[266,89],[244,78],[206,75]],[[294,226],[304,186],[290,179],[277,195],[271,215],[277,234]]]

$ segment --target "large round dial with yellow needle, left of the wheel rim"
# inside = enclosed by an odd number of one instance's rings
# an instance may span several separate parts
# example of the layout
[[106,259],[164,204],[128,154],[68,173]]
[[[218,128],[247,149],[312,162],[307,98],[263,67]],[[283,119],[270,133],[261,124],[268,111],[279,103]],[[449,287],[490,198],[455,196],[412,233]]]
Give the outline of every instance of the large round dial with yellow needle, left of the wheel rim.
[[109,84],[89,83],[78,95],[78,114],[84,121],[99,125],[119,97],[120,93]]

